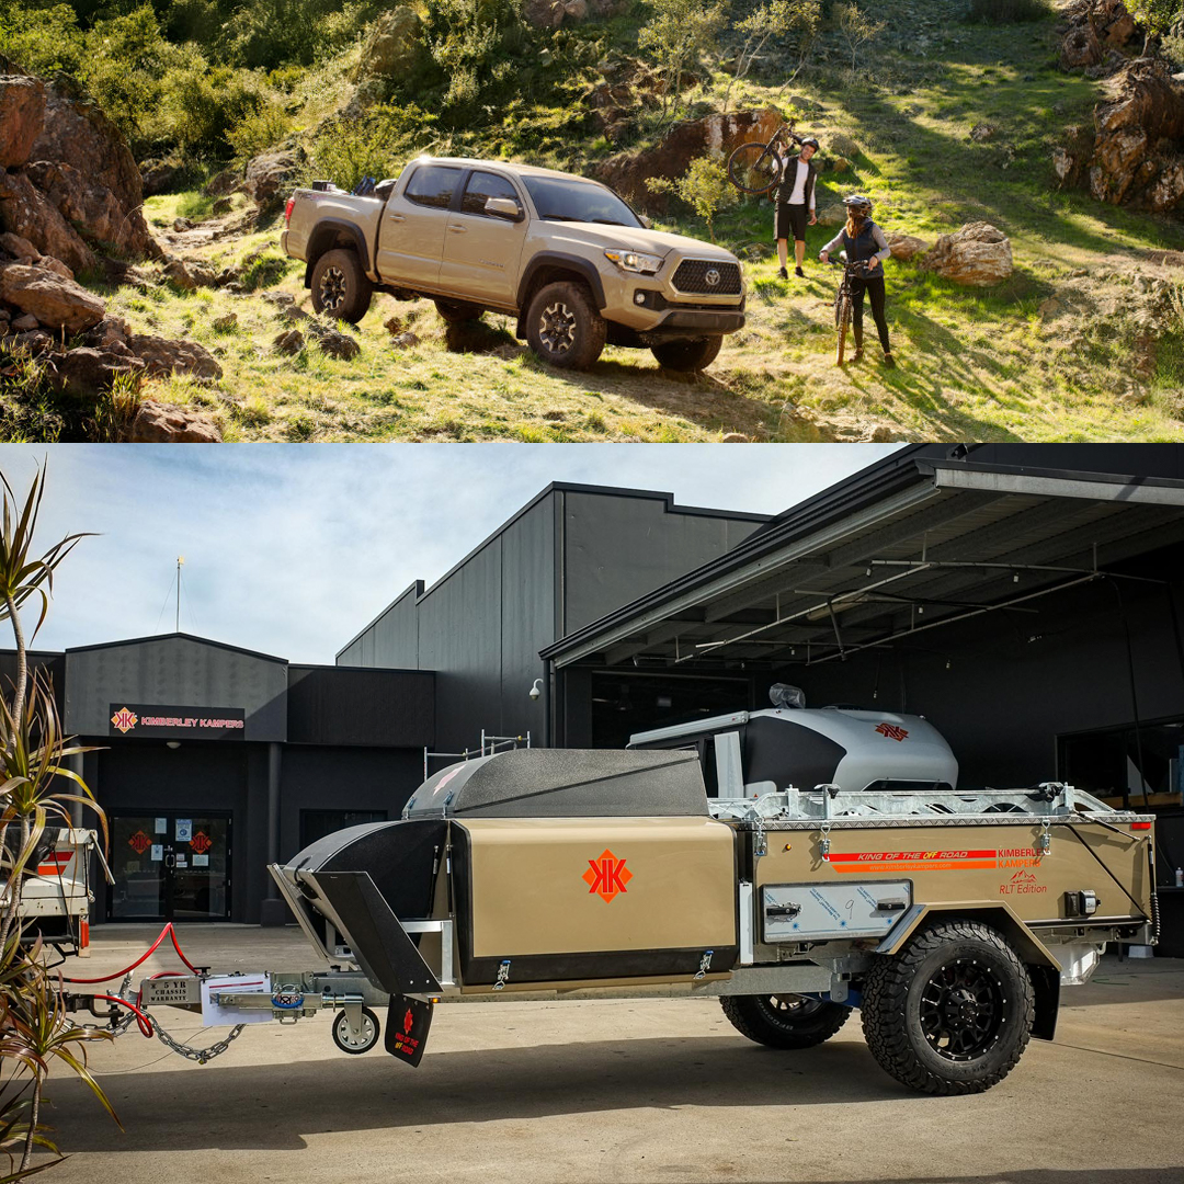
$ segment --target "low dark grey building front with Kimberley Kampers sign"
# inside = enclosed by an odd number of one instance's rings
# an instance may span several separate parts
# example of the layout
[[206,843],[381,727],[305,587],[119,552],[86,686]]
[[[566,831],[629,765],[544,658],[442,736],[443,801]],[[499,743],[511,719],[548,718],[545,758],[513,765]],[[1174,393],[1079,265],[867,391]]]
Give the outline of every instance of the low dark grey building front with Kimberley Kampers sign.
[[435,742],[430,671],[292,665],[184,633],[31,658],[94,748],[76,768],[110,830],[99,924],[284,924],[266,863],[398,817]]

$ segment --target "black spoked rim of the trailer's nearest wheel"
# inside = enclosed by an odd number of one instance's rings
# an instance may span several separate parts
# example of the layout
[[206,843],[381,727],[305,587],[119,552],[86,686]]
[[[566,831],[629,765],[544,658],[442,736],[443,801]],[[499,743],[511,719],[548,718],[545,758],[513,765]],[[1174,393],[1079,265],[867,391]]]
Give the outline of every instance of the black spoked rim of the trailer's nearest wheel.
[[938,1056],[965,1063],[999,1038],[1006,997],[986,963],[957,958],[938,967],[921,990],[921,1031]]

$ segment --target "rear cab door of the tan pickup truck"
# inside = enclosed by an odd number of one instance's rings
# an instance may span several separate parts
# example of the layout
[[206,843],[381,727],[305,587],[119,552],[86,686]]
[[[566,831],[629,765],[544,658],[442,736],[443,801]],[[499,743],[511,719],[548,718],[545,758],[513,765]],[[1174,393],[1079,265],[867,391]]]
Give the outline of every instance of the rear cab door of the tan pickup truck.
[[386,283],[435,288],[444,253],[449,210],[464,169],[456,165],[414,165],[401,191],[382,211],[378,270]]

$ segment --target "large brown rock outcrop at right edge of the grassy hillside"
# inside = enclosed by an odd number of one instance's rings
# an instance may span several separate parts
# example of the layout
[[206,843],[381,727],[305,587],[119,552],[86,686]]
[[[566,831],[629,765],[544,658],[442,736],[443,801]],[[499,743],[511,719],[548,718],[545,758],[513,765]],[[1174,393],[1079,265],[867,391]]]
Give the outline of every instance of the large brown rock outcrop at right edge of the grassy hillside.
[[1070,128],[1053,154],[1062,186],[1154,213],[1184,208],[1184,85],[1158,58],[1137,58],[1107,83],[1093,135]]

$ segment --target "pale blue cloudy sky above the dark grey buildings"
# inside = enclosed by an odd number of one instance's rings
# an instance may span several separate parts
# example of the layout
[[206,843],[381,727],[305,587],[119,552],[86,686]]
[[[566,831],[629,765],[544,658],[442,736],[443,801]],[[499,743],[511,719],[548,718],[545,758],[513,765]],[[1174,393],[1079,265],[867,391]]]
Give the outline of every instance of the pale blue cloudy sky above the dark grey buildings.
[[552,481],[777,514],[895,448],[8,444],[0,470],[22,495],[47,461],[38,553],[98,533],[59,570],[37,649],[170,632],[184,555],[182,631],[332,663],[408,584],[431,585]]

